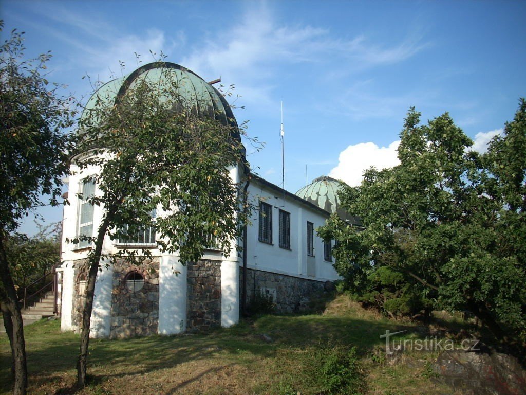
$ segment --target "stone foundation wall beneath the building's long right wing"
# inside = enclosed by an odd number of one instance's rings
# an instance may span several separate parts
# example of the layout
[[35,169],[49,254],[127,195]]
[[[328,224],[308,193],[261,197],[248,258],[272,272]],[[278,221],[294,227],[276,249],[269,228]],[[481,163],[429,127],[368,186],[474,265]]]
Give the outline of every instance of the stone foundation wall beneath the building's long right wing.
[[[242,287],[242,269],[239,271],[239,275],[239,285]],[[277,313],[296,313],[309,309],[310,298],[323,292],[325,283],[285,274],[247,269],[247,305],[254,297],[255,290],[272,294]],[[242,295],[242,289],[239,294]]]

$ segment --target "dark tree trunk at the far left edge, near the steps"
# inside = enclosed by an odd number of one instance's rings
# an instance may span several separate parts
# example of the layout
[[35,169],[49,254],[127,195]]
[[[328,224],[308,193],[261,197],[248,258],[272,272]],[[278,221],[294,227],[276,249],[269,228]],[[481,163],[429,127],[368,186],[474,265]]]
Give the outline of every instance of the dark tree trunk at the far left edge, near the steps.
[[[27,388],[27,363],[26,344],[24,341],[24,323],[20,312],[20,304],[15,290],[15,284],[9,271],[7,256],[4,250],[3,240],[0,237],[0,278],[4,286],[3,308],[11,316],[11,350],[13,353],[13,366],[15,371],[14,395],[25,395]],[[7,331],[7,328],[6,328]],[[9,332],[8,332],[9,333]]]

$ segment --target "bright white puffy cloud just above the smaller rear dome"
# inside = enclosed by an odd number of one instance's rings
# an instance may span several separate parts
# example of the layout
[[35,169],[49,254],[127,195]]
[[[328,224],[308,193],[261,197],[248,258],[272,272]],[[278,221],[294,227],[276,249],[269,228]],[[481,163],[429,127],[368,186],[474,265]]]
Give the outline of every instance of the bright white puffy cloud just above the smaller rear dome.
[[371,166],[381,170],[399,164],[398,145],[400,141],[392,142],[388,147],[379,147],[371,142],[349,145],[340,153],[339,163],[330,171],[329,176],[350,186],[358,186],[363,172]]

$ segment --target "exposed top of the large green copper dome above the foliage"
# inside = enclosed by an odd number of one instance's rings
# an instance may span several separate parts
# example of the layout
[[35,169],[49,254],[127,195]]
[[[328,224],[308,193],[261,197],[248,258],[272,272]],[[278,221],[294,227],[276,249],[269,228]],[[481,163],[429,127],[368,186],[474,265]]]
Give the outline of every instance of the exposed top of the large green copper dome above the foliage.
[[137,81],[177,84],[177,92],[167,100],[173,101],[174,110],[190,109],[199,116],[214,117],[225,125],[234,126],[236,137],[240,139],[237,121],[225,97],[193,71],[169,62],[149,63],[133,73],[116,78],[100,86],[90,97],[86,109],[94,108],[100,100],[115,102],[118,97],[133,87]]

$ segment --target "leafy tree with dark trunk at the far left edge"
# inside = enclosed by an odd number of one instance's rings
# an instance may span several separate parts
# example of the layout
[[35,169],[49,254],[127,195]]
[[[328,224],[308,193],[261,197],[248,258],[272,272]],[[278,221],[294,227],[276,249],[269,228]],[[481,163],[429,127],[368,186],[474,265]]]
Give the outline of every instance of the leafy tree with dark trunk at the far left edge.
[[[3,28],[3,23],[0,23]],[[6,241],[37,206],[58,204],[68,173],[68,136],[74,111],[60,86],[45,78],[50,54],[24,60],[23,33],[0,47],[0,300],[13,351],[14,393],[27,386],[24,329]]]

